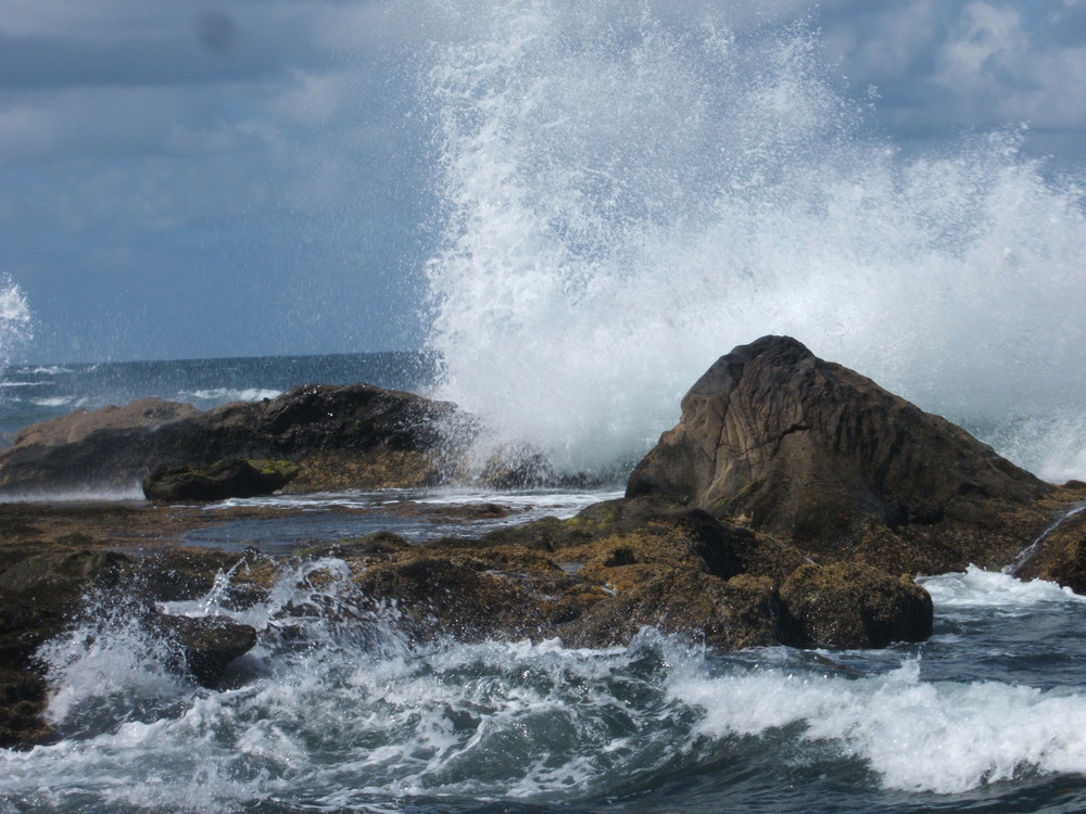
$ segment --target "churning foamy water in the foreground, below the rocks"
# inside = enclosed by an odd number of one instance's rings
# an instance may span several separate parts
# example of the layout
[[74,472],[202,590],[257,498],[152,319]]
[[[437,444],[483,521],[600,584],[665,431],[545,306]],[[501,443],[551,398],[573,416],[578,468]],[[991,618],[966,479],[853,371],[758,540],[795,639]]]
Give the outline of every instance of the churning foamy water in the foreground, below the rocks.
[[[658,811],[669,777],[711,785],[716,802],[696,811],[724,800],[839,811],[842,788],[855,810],[879,810],[895,792],[1013,799],[1046,775],[1086,773],[1081,676],[1032,686],[968,666],[1015,625],[1034,635],[1039,613],[1086,619],[1081,597],[1050,584],[975,569],[929,578],[937,620],[952,610],[958,622],[937,621],[927,645],[720,656],[648,628],[598,650],[414,644],[395,609],[359,611],[334,558],[285,568],[244,610],[227,601],[232,576],[166,608],[261,631],[222,690],[175,673],[176,653],[124,607],[97,607],[42,649],[63,739],[0,751],[5,811],[374,811],[411,800]],[[978,627],[957,638],[961,624]],[[788,777],[808,778],[808,791],[793,797]]]

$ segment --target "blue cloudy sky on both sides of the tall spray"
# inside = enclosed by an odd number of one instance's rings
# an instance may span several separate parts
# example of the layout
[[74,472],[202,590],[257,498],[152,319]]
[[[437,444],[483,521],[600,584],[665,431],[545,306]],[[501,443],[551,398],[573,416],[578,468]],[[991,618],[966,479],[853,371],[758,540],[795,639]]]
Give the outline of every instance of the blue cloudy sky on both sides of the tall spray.
[[[34,317],[13,358],[418,347],[441,231],[426,8],[0,0],[0,274]],[[734,8],[737,29],[809,26],[902,149],[1024,126],[1051,171],[1086,167],[1086,1]]]

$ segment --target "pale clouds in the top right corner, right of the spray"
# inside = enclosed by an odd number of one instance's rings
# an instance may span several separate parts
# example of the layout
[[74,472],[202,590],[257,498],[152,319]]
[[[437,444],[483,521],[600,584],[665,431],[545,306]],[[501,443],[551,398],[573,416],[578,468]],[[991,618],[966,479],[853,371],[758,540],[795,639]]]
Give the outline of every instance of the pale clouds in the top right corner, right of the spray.
[[1083,3],[851,3],[822,25],[829,56],[858,91],[863,82],[877,89],[895,130],[1086,128]]

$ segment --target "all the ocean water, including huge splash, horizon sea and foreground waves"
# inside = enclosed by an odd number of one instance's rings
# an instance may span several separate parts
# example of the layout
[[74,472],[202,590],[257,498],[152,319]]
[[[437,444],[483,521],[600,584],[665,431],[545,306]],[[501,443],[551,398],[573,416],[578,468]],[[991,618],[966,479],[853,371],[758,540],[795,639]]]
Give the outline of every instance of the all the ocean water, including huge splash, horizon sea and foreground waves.
[[[424,351],[9,366],[0,430],[366,380],[456,402],[494,447],[615,472],[718,356],[779,333],[1043,478],[1086,478],[1082,179],[1023,156],[1018,128],[904,150],[843,94],[812,20],[736,34],[740,5],[412,0],[432,40],[404,55],[438,218]],[[337,506],[518,522],[621,488],[291,497],[301,520],[192,542],[285,554],[358,532]],[[652,628],[602,650],[413,644],[394,611],[342,621],[342,562],[283,568],[243,612],[229,573],[171,609],[265,629],[218,690],[162,667],[119,607],[49,643],[61,739],[0,751],[0,813],[1086,810],[1086,598],[1052,584],[921,575],[929,641],[725,654]]]

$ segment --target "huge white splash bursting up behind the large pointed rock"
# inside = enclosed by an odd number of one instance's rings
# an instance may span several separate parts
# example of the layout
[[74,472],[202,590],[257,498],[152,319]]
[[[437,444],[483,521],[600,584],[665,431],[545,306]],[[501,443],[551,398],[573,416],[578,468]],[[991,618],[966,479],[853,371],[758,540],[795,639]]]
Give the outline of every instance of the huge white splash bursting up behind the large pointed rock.
[[[729,15],[449,12],[427,77],[441,395],[597,470],[672,425],[717,356],[784,333],[1041,474],[1079,471],[1081,188],[1046,179],[1016,130],[908,157],[838,90],[812,26]],[[1008,430],[1023,417],[1044,437]]]

